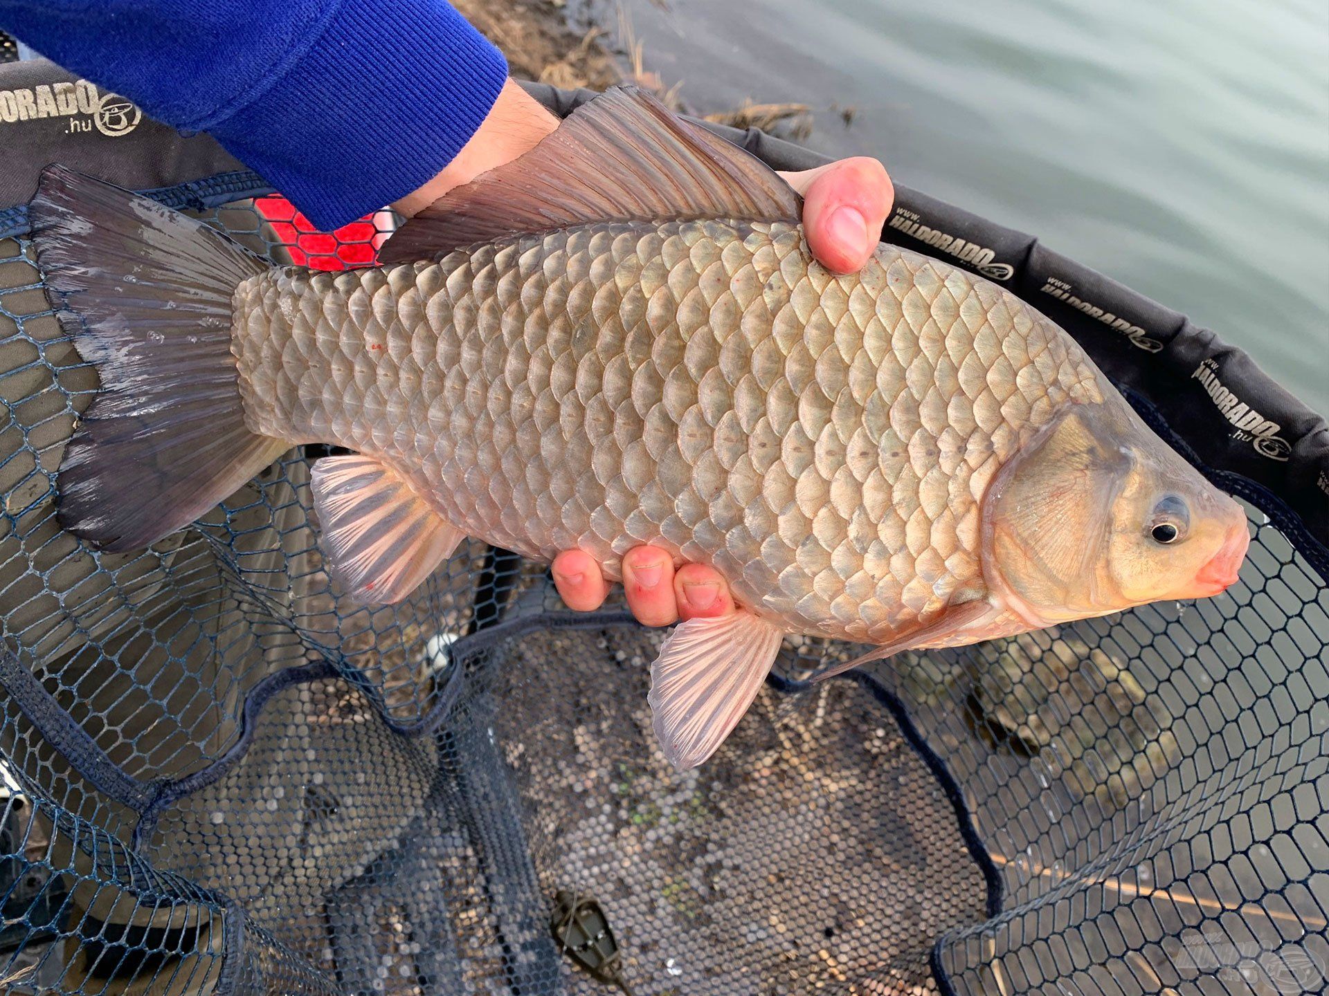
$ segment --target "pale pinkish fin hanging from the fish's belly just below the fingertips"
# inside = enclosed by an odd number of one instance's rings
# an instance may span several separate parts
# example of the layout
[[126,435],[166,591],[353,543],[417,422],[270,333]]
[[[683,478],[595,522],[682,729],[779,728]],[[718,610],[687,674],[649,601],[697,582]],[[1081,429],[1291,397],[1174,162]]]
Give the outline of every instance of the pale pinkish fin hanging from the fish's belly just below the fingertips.
[[756,699],[784,632],[751,612],[680,623],[651,665],[655,736],[679,770],[708,758]]

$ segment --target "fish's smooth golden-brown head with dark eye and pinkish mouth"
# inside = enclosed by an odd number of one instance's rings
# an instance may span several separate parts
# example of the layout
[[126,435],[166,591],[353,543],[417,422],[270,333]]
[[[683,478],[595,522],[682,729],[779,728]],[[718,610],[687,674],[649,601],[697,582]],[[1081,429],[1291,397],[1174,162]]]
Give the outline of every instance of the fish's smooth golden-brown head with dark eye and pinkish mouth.
[[989,587],[1035,625],[1217,595],[1248,543],[1241,506],[1115,392],[1071,406],[983,498]]

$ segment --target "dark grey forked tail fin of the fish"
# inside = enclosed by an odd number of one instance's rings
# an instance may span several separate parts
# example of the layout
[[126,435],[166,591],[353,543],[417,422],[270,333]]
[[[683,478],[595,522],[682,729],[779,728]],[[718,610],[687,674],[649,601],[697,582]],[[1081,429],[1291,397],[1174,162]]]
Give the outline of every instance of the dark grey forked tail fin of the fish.
[[231,295],[267,264],[60,166],[41,174],[28,210],[52,304],[101,377],[60,466],[60,523],[105,550],[137,550],[287,449],[245,426],[231,355]]

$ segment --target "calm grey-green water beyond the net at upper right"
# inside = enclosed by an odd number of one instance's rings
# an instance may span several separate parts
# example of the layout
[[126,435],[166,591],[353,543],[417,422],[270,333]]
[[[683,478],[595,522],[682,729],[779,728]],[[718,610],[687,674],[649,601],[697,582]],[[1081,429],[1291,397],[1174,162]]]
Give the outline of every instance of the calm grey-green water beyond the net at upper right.
[[1038,235],[1329,412],[1325,0],[623,7],[692,109],[809,104],[808,145]]

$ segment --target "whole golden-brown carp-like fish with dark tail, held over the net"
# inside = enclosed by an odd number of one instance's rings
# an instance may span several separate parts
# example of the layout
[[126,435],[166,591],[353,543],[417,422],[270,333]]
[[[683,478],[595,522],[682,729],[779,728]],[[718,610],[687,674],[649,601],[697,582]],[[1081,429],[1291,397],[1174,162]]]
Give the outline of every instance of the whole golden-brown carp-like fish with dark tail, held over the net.
[[258,259],[48,167],[31,205],[53,307],[101,378],[58,515],[102,550],[186,527],[290,448],[327,570],[397,602],[472,537],[621,576],[706,563],[739,611],[651,665],[664,756],[702,764],[789,633],[870,653],[1013,636],[1237,576],[1241,507],[1013,293],[881,244],[811,255],[744,150],[618,88],[444,195],[379,266]]

